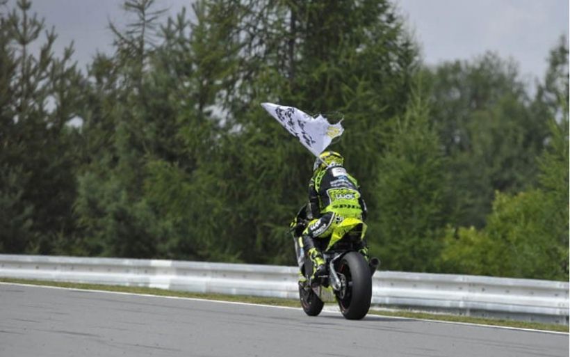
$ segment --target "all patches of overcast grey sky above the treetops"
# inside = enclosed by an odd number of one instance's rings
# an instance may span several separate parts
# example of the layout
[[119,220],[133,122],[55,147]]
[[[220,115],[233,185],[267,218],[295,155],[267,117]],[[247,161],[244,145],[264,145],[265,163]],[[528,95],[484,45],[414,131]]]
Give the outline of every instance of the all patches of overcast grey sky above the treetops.
[[[10,7],[16,0],[8,0]],[[542,78],[548,51],[569,33],[568,0],[394,0],[421,44],[424,63],[471,60],[485,51],[519,63],[523,76]],[[122,0],[32,0],[32,9],[55,26],[56,54],[74,41],[74,58],[86,68],[96,51],[110,52],[112,21],[125,20]],[[190,0],[157,0],[175,15]]]

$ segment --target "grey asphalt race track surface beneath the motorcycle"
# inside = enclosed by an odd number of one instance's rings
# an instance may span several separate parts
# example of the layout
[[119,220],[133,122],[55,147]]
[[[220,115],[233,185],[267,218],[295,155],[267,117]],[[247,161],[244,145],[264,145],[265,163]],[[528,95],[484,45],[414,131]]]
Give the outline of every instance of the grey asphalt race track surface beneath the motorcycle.
[[569,356],[569,335],[0,284],[0,356]]

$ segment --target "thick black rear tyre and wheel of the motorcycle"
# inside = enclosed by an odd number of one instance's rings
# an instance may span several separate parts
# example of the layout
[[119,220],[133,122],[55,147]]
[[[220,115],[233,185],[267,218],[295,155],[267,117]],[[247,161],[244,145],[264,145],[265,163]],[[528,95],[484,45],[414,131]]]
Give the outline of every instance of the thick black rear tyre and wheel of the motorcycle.
[[343,316],[351,320],[362,319],[370,310],[372,299],[372,278],[366,260],[357,252],[347,253],[337,273],[343,287],[336,293],[336,299]]

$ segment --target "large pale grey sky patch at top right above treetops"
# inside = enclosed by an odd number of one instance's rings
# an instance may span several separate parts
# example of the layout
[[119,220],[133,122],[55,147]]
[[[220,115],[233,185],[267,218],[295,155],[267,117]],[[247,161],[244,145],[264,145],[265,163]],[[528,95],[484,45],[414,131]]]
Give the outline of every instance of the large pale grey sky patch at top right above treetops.
[[542,78],[548,52],[568,39],[568,0],[398,0],[421,43],[424,62],[469,60],[485,51]]

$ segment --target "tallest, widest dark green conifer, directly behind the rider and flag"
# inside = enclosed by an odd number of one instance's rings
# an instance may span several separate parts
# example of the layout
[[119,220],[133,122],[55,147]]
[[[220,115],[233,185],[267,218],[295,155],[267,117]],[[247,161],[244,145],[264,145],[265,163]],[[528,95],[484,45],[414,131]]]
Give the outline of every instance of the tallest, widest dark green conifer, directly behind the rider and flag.
[[[384,145],[379,133],[405,106],[414,44],[387,1],[201,4],[198,26],[225,34],[225,44],[235,49],[227,81],[220,81],[225,87],[217,92],[225,134],[216,141],[213,162],[199,170],[217,181],[210,197],[222,207],[213,212],[219,241],[245,262],[291,262],[285,228],[307,200],[314,158],[259,104],[343,113],[347,131],[332,148],[345,154],[348,168],[371,192]],[[212,54],[219,46],[217,39],[204,43]]]

